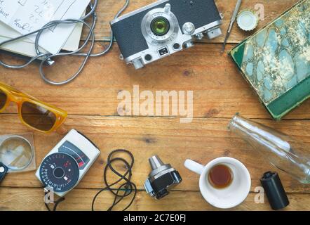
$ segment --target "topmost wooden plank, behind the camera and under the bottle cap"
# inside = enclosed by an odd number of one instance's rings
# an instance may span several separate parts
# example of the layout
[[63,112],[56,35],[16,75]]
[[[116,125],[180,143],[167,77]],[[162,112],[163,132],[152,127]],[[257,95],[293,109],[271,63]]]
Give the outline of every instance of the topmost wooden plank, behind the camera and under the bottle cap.
[[[114,15],[117,11],[123,6],[125,1],[114,1],[114,0],[107,0],[107,1],[100,1],[98,8],[97,8],[97,26],[95,29],[95,37],[97,40],[102,40],[102,37],[109,37],[109,21],[114,18]],[[130,5],[126,9],[125,13],[134,11],[137,8],[142,8],[143,6],[147,6],[148,4],[153,3],[154,0],[130,0]],[[216,0],[217,8],[221,13],[224,14],[223,25],[222,25],[222,33],[226,34],[227,27],[230,22],[230,18],[232,12],[234,11],[236,1],[227,1],[227,0]],[[264,27],[272,20],[274,20],[278,15],[286,11],[290,8],[293,4],[295,4],[297,0],[284,0],[284,1],[277,1],[277,0],[263,0],[259,2],[250,1],[250,0],[243,0],[243,4],[241,5],[241,10],[247,9],[254,9],[255,4],[260,3],[264,5],[265,9],[265,19],[260,21],[257,30],[261,27]],[[229,38],[229,43],[238,43],[241,40],[248,37],[251,33],[241,32],[235,25],[231,36]],[[86,35],[83,35],[85,38]],[[223,42],[224,35],[222,37],[218,37],[217,39],[213,39],[212,41],[208,41],[207,38],[203,39],[204,42]]]

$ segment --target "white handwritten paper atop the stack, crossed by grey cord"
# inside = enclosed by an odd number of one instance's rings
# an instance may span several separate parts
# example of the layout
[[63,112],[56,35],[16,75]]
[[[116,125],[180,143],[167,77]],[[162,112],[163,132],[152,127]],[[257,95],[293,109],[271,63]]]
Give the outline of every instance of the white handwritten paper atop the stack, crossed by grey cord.
[[[52,20],[80,18],[90,0],[0,0],[0,20],[20,34],[39,30]],[[58,53],[75,25],[57,25],[43,32],[39,45]],[[34,37],[30,37],[34,41]]]

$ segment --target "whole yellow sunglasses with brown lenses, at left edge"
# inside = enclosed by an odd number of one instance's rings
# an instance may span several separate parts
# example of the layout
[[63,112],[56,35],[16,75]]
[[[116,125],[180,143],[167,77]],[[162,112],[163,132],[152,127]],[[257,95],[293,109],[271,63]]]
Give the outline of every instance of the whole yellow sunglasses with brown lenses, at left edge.
[[11,102],[18,105],[18,114],[23,124],[46,134],[57,130],[67,118],[66,111],[0,82],[0,113]]

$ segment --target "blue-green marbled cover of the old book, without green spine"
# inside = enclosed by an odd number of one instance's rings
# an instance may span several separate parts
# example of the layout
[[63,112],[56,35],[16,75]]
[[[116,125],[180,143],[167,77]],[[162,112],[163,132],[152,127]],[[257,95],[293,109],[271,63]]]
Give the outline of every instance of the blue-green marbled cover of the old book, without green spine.
[[265,104],[310,76],[310,0],[246,41],[242,70]]

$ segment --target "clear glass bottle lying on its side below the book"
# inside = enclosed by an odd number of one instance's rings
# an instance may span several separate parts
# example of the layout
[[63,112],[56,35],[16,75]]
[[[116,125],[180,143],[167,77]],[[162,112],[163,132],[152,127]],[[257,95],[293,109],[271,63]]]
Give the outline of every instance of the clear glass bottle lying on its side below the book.
[[261,153],[271,165],[302,184],[310,184],[310,146],[306,143],[245,119],[238,113],[231,119],[228,128]]

